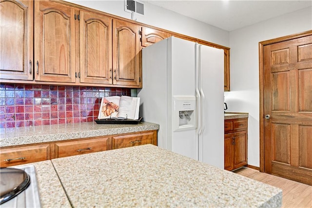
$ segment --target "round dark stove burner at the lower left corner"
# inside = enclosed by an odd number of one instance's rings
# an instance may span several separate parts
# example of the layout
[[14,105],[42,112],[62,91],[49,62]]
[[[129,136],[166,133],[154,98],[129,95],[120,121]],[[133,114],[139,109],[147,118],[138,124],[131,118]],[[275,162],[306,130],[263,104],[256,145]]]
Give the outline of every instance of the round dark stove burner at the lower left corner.
[[0,204],[14,198],[30,184],[29,175],[22,169],[0,168]]

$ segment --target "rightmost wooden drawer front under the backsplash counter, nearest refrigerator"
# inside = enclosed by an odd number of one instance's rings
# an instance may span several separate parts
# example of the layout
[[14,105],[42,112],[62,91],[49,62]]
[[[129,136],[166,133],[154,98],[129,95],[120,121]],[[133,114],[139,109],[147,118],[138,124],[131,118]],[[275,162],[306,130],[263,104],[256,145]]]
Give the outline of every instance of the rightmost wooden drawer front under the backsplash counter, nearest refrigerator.
[[157,131],[114,136],[112,138],[112,144],[113,149],[147,144],[157,145]]

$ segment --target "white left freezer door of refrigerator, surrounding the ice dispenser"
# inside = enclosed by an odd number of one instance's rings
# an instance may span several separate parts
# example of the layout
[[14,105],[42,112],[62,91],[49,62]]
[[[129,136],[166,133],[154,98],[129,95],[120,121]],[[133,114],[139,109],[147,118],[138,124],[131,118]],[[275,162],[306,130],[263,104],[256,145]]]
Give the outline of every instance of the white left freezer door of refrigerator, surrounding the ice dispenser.
[[[172,151],[181,155],[198,160],[198,139],[196,129],[185,129],[174,131],[174,96],[195,97],[195,42],[190,42],[178,38],[170,38],[168,44],[168,112],[171,112],[170,128]],[[170,108],[169,108],[170,107]],[[194,115],[197,121],[197,114]],[[197,122],[195,122],[197,123]],[[196,125],[196,124],[195,124]],[[170,134],[168,134],[170,135]]]

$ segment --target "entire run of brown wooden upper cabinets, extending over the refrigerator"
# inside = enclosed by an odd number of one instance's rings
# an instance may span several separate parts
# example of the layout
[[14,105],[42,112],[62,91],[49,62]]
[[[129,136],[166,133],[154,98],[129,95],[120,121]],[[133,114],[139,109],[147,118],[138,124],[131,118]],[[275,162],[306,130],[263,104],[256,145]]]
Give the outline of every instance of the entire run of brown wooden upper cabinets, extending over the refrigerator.
[[0,81],[142,87],[141,48],[175,36],[230,49],[62,0],[0,1]]

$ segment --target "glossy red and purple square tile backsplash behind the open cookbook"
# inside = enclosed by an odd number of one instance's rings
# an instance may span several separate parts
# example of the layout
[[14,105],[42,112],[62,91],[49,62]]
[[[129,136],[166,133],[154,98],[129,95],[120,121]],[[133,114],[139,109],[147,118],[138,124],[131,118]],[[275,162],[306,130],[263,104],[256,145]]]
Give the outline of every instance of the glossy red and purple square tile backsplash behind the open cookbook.
[[0,83],[0,128],[93,122],[103,97],[131,89]]

